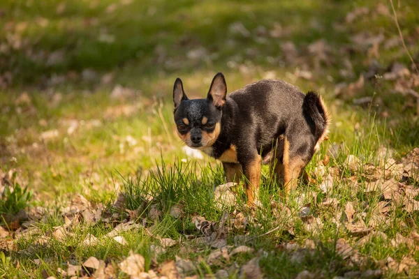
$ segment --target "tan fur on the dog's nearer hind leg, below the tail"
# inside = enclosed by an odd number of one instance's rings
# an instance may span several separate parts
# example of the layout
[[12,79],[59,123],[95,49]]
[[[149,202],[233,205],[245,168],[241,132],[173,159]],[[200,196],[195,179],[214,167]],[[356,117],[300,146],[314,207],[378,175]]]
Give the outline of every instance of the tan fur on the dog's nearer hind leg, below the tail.
[[290,193],[291,190],[295,190],[297,187],[297,181],[300,178],[301,174],[307,176],[307,173],[302,172],[304,167],[307,165],[307,160],[304,160],[301,156],[290,157],[289,154],[290,143],[288,139],[284,140],[284,186],[286,193]]

